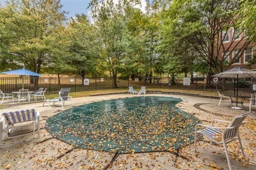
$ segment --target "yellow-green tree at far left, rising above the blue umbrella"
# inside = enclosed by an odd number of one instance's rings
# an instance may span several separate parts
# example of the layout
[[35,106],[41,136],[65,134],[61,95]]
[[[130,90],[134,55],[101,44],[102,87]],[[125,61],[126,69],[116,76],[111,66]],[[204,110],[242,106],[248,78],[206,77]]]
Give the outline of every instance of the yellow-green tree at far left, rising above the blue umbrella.
[[60,0],[12,0],[0,8],[1,67],[41,73],[58,52],[65,20]]

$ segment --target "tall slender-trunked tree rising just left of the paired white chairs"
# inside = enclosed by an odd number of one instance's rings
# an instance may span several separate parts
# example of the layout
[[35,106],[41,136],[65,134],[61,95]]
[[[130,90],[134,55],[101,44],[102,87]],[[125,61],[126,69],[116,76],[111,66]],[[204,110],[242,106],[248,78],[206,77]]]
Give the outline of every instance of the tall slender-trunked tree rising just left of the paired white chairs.
[[112,0],[93,6],[93,18],[99,40],[98,50],[102,61],[108,63],[113,76],[113,87],[117,88],[117,74],[122,70],[122,59],[130,48],[126,20],[126,1],[113,3]]

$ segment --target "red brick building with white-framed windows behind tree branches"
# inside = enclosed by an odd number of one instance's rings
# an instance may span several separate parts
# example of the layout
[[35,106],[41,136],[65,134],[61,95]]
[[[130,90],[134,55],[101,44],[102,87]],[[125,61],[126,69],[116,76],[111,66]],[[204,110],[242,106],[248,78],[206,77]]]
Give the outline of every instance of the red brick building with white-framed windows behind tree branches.
[[[244,43],[246,43],[246,37],[244,33],[241,33],[240,35],[239,31],[236,31],[236,29],[234,28],[230,28],[230,30],[228,32],[224,31],[222,33],[222,37],[223,37],[223,45],[224,45],[224,49],[227,49],[231,44],[229,50],[227,51],[226,56],[227,60],[230,61],[234,56],[236,56],[236,53],[239,52],[240,48],[243,48]],[[233,40],[233,37],[235,38],[235,40]],[[223,56],[223,48],[221,47],[220,51],[219,51],[219,57]],[[240,51],[241,53],[243,53],[239,59],[239,61],[233,63],[230,68],[233,67],[237,67],[237,66],[241,66],[244,68],[248,68],[247,67],[247,62],[249,59],[252,59],[253,54],[256,54],[256,44],[255,43],[250,43],[245,49],[242,49]],[[256,64],[251,66],[252,70],[256,70]]]

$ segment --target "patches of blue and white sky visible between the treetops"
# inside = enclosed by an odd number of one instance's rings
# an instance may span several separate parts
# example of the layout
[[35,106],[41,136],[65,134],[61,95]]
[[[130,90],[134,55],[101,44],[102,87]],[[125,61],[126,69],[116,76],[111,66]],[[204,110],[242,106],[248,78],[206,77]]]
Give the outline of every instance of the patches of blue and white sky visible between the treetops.
[[[113,2],[118,0],[113,0]],[[74,17],[75,14],[90,14],[90,8],[87,8],[90,3],[90,0],[61,0],[63,9],[68,12],[67,17]],[[143,12],[145,11],[146,1],[141,0],[141,6],[135,6],[140,8]]]

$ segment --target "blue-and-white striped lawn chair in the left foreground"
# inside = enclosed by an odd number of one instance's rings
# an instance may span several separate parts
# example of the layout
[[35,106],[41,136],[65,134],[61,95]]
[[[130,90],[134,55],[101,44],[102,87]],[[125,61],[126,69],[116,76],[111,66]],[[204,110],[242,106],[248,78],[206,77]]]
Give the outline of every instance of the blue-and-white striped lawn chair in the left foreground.
[[[40,139],[40,113],[39,111],[35,112],[35,109],[27,109],[27,110],[22,110],[22,111],[15,111],[15,112],[9,112],[9,113],[3,113],[3,118],[0,120],[0,148],[3,148],[3,121],[5,120],[6,122],[6,138],[14,138],[14,137],[19,137],[19,136],[24,136],[28,135],[30,133],[34,133],[36,128],[35,128],[35,123],[38,125],[38,139]],[[23,122],[29,122],[32,121],[34,130],[30,133],[22,134],[22,135],[17,135],[17,136],[9,136],[9,133],[11,131],[11,128],[17,128],[20,126],[13,126],[18,123],[23,123]],[[11,127],[12,126],[12,127]],[[24,126],[24,125],[21,125]],[[31,138],[30,138],[31,139]],[[29,140],[29,139],[26,139]],[[22,142],[24,140],[16,141],[9,143],[8,146],[12,146],[14,144],[17,144],[19,142]],[[5,147],[8,147],[5,146]]]

